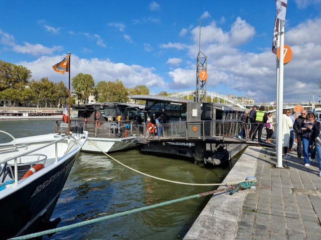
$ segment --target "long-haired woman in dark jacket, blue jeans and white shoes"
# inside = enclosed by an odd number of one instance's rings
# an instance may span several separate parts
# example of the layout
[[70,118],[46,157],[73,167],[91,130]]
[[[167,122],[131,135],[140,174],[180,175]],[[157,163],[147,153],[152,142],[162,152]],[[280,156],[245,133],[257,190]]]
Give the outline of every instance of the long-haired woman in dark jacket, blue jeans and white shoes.
[[[302,130],[302,146],[303,146],[303,156],[304,156],[304,166],[310,165],[310,159],[309,159],[309,140],[311,135],[311,129],[313,125],[315,124],[315,116],[313,112],[307,113],[304,121],[301,124],[301,130]],[[311,155],[311,159],[314,159],[315,155]]]

